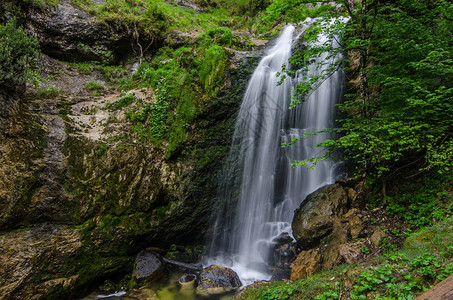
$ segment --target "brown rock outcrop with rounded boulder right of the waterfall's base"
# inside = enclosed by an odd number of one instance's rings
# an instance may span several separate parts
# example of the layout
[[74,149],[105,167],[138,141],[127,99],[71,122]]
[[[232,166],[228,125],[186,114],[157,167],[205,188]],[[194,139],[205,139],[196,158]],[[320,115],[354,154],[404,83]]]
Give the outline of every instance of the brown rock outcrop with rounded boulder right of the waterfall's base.
[[364,249],[377,247],[370,238],[374,227],[364,222],[371,213],[359,208],[362,195],[363,181],[346,180],[307,196],[292,222],[293,236],[304,251],[291,264],[291,279],[357,262],[366,258],[364,251],[371,253]]

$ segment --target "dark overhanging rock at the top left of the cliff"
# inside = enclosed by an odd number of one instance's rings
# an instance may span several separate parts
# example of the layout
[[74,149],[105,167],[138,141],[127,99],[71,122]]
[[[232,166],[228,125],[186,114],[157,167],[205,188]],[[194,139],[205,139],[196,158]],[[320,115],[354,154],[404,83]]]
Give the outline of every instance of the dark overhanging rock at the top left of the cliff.
[[132,33],[108,25],[75,8],[70,1],[27,11],[26,28],[38,37],[44,53],[72,61],[114,62],[132,51]]

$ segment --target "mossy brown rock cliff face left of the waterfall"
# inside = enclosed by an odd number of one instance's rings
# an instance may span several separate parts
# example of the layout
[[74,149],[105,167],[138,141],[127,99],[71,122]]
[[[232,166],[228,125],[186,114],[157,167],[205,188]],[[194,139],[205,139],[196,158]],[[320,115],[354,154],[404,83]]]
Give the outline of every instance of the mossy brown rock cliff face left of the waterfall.
[[75,297],[129,271],[145,247],[201,244],[252,64],[229,71],[231,89],[195,120],[189,150],[165,159],[165,142],[143,139],[126,118],[156,101],[151,88],[129,91],[121,107],[125,95],[104,74],[56,60],[116,61],[131,51],[127,34],[66,1],[28,12],[58,92],[0,96],[0,298]]

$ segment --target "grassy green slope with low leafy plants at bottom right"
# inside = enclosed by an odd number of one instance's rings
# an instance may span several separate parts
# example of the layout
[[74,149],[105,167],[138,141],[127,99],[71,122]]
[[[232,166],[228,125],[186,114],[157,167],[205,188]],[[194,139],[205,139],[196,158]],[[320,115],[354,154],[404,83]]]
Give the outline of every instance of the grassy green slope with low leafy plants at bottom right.
[[411,235],[400,251],[304,280],[250,286],[240,299],[415,299],[453,274],[453,219]]

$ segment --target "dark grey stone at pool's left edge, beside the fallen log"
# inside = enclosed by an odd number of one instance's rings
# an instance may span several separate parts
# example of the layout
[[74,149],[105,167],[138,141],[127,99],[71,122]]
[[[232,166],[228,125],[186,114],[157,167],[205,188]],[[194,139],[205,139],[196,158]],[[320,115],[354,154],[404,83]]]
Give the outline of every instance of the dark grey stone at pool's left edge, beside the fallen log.
[[134,277],[154,281],[165,276],[164,264],[158,254],[144,250],[135,258]]

